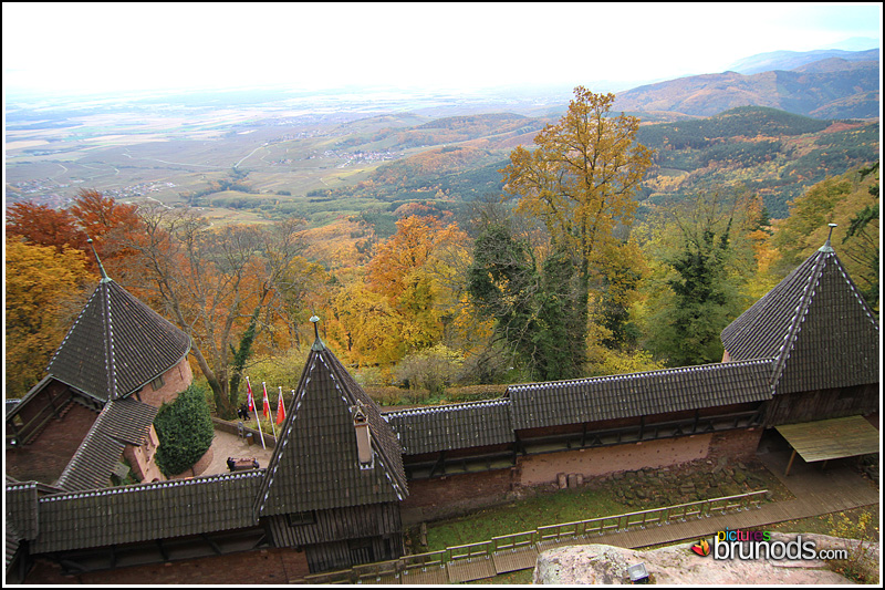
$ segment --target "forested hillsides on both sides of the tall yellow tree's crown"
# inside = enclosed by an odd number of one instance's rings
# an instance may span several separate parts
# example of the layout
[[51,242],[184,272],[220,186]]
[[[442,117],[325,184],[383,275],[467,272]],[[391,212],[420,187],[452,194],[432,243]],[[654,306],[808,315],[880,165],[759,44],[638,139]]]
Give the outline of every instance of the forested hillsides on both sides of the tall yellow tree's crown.
[[[517,145],[531,146],[546,123],[516,115],[461,116],[346,136],[342,142],[351,149],[403,147],[416,138],[429,144],[379,165],[363,180],[314,189],[305,198],[279,199],[271,210],[310,217],[337,207],[385,238],[416,205],[457,215],[478,198],[500,195],[508,154]],[[773,218],[785,217],[788,201],[827,175],[875,161],[879,145],[877,122],[818,120],[757,106],[644,124],[637,139],[656,152],[656,167],[637,192],[641,201],[678,200],[699,190],[742,186],[762,197]],[[646,207],[638,211],[641,217],[646,214]]]

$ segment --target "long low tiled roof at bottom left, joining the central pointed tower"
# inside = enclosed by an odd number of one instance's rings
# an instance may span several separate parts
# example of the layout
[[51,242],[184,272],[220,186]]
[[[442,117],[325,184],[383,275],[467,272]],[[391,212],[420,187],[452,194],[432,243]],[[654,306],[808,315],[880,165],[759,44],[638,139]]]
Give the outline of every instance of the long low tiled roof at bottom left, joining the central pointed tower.
[[[35,553],[252,527],[263,469],[39,498]],[[9,489],[9,486],[7,486]]]

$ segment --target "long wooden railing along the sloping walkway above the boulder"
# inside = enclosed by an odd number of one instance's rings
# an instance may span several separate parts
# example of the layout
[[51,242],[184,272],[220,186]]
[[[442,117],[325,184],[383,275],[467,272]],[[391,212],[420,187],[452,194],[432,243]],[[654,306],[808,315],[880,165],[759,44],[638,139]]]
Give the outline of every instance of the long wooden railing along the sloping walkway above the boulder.
[[664,508],[639,510],[637,513],[548,525],[538,527],[534,530],[493,537],[488,541],[446,547],[439,551],[403,556],[392,561],[365,563],[346,570],[313,573],[304,577],[303,581],[308,583],[372,583],[382,576],[398,577],[405,571],[427,571],[434,568],[445,568],[449,563],[457,563],[467,559],[491,558],[492,555],[503,551],[520,551],[532,547],[544,549],[545,545],[558,545],[571,539],[586,542],[591,535],[604,536],[610,532],[624,532],[637,527],[644,529],[649,525],[663,526],[674,521],[685,522],[689,518],[708,518],[723,515],[731,510],[740,511],[759,508],[766,494],[768,494],[768,490],[762,489],[736,496],[723,496]]

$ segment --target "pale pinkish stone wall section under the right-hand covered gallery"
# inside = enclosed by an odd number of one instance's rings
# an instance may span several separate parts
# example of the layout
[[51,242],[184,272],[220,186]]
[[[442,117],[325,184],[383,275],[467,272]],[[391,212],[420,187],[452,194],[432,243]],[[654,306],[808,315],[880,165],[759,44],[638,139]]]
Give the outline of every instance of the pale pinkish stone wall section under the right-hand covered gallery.
[[663,467],[705,458],[710,452],[710,434],[663,438],[597,448],[563,451],[519,457],[521,486],[556,483],[556,475],[583,474],[584,478],[643,467]]

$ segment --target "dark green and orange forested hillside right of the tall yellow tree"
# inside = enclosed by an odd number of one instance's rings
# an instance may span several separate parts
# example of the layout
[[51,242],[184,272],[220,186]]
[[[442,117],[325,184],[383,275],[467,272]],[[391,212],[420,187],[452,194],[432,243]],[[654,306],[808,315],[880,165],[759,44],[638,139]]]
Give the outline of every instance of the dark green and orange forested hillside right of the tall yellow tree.
[[826,176],[874,162],[878,122],[821,121],[774,108],[742,106],[717,116],[644,125],[638,139],[657,151],[657,177],[646,196],[742,186],[760,195],[772,218]]

